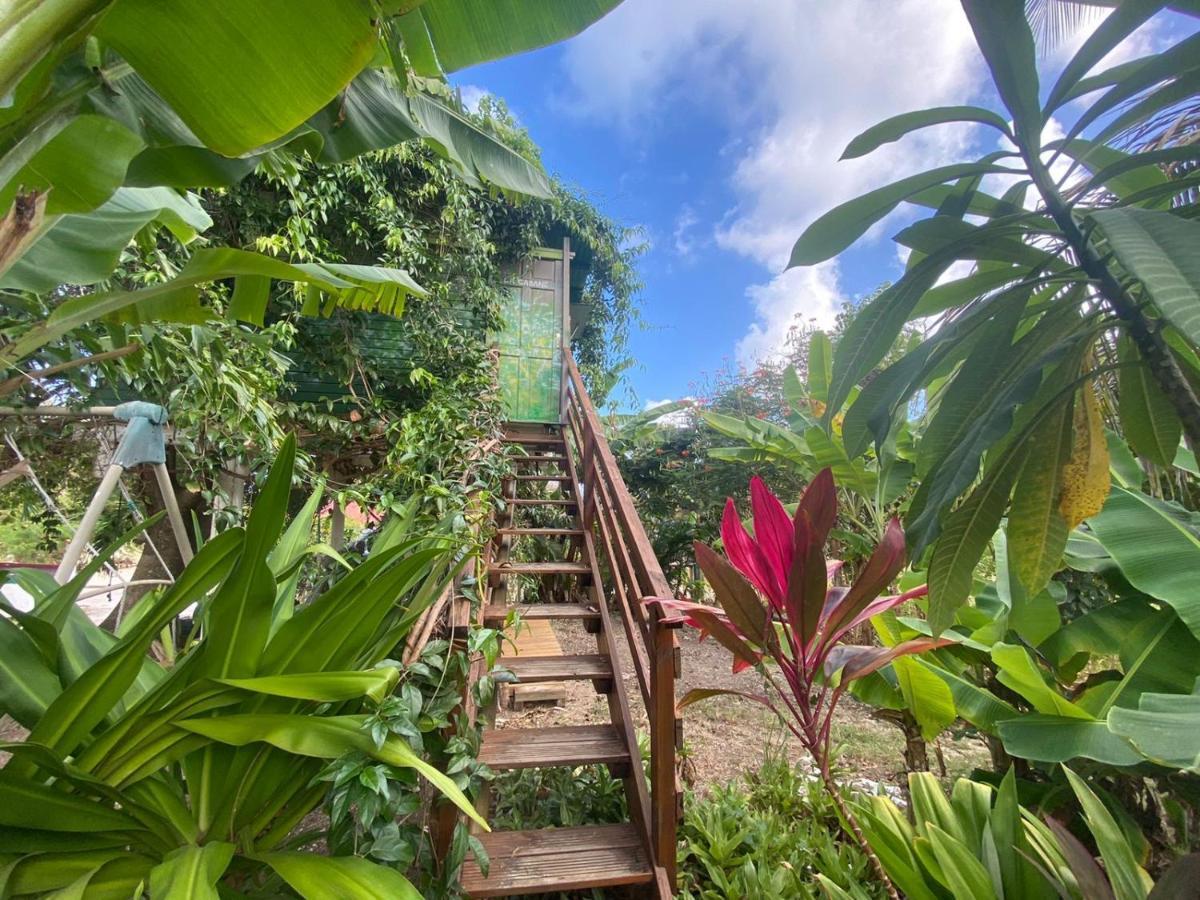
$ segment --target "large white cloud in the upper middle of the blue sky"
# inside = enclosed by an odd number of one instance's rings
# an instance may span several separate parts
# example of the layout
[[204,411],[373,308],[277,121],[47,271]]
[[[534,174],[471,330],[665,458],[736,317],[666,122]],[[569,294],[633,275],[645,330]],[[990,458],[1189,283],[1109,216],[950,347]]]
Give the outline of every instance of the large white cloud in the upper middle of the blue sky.
[[[804,228],[871,187],[961,158],[973,130],[935,128],[839,163],[850,139],[984,84],[956,0],[626,0],[566,60],[578,113],[637,134],[686,104],[733,136],[721,156],[738,202],[712,240],[764,270],[746,290],[755,322],[738,342],[743,361],[780,349],[797,313],[830,324],[845,299],[835,265],[781,274]],[[697,223],[676,224],[686,256]]]

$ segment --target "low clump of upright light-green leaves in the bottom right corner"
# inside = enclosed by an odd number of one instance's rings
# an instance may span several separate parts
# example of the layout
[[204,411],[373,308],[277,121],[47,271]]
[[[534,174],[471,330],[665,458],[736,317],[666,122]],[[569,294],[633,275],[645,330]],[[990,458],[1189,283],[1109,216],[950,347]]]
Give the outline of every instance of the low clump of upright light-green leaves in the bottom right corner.
[[[1087,781],[1063,768],[1081,820],[1099,850],[1104,868],[1058,816],[1043,818],[1022,806],[1012,769],[998,788],[959,779],[947,797],[928,773],[908,776],[910,816],[886,797],[863,809],[868,840],[896,886],[911,900],[970,898],[1184,898],[1194,884],[1180,876],[1194,871],[1198,858],[1183,857],[1154,888],[1121,826]],[[1066,810],[1068,815],[1072,810]]]

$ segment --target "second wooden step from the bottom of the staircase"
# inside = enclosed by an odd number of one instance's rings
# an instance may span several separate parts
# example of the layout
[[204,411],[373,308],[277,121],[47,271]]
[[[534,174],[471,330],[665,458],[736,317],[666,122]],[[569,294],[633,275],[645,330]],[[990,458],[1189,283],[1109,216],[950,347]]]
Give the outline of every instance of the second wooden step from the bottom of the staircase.
[[629,748],[612,725],[491,728],[484,732],[479,761],[497,772],[613,764],[629,762]]

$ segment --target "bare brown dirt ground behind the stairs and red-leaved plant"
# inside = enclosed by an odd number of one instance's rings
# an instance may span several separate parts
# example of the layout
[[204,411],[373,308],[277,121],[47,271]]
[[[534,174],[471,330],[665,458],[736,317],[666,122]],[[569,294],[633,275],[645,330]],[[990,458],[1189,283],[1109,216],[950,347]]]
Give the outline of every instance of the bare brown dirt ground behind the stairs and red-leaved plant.
[[[614,623],[616,624],[616,623]],[[595,638],[576,623],[554,623],[554,631],[566,654],[595,653]],[[679,630],[683,674],[678,696],[694,688],[726,688],[761,694],[762,679],[754,671],[732,674],[730,654],[715,641],[700,641],[691,629]],[[644,731],[646,710],[624,634],[619,635],[619,655],[635,726]],[[527,704],[524,709],[502,709],[498,727],[536,727],[551,725],[589,725],[608,721],[608,706],[590,683],[566,684],[566,702]],[[896,784],[904,772],[904,739],[900,731],[875,719],[870,707],[853,697],[839,704],[834,719],[834,743],[840,745],[842,768],[856,779]],[[767,709],[737,697],[721,696],[692,704],[684,710],[684,772],[700,790],[730,781],[754,770],[768,749],[782,749],[793,762],[806,758],[799,743],[787,733]],[[949,776],[965,774],[988,762],[982,743],[973,739],[941,738],[942,758]],[[930,763],[937,770],[934,748]]]

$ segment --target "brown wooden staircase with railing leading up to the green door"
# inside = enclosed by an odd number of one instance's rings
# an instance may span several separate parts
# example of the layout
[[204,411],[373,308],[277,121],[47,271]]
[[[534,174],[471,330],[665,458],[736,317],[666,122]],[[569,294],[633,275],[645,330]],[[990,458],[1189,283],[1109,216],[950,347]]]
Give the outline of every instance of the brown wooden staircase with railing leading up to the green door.
[[[479,624],[577,622],[595,636],[595,653],[505,655],[517,684],[590,682],[605,696],[608,722],[558,727],[485,728],[480,761],[496,772],[602,764],[620,778],[630,821],[574,828],[476,833],[490,858],[485,877],[473,858],[462,874],[470,898],[619,888],[619,896],[666,900],[674,883],[680,792],[674,772],[680,730],[674,710],[678,644],[643,600],[664,595],[662,578],[574,362],[560,427],[511,426],[520,454],[505,487],[504,511],[485,558]],[[532,510],[557,510],[553,524],[528,523]],[[629,517],[632,516],[632,522]],[[546,516],[542,517],[542,521]],[[530,559],[529,547],[552,558]],[[553,547],[553,551],[546,551]],[[599,547],[599,552],[598,552]],[[523,602],[534,580],[548,602]],[[618,653],[618,641],[629,653]],[[642,694],[650,731],[649,778],[630,715],[625,668]],[[636,677],[636,678],[635,678]],[[485,812],[490,798],[482,798]]]

